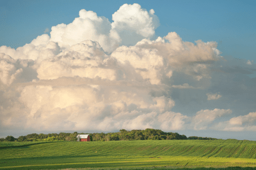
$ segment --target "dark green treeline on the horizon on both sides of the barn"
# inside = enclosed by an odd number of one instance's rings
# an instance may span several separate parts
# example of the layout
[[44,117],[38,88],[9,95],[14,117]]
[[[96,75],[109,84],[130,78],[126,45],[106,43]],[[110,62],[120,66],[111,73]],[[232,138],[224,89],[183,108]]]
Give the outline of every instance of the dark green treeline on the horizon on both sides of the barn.
[[0,141],[77,141],[77,134],[90,134],[91,141],[122,141],[122,140],[172,140],[172,139],[199,139],[210,140],[216,138],[202,138],[197,136],[189,136],[188,138],[182,134],[175,132],[163,132],[158,129],[132,130],[126,131],[121,129],[119,132],[111,133],[64,133],[60,134],[28,134],[26,136],[7,136],[0,138]]

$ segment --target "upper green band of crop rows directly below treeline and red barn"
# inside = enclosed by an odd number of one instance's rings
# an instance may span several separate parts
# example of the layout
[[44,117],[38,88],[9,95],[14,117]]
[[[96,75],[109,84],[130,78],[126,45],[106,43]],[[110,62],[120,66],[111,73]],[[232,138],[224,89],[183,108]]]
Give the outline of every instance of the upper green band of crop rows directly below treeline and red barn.
[[[219,141],[219,142],[217,142]],[[108,142],[53,142],[0,145],[0,159],[20,157],[62,156],[188,156],[233,157],[256,159],[254,143],[215,141],[108,141]]]

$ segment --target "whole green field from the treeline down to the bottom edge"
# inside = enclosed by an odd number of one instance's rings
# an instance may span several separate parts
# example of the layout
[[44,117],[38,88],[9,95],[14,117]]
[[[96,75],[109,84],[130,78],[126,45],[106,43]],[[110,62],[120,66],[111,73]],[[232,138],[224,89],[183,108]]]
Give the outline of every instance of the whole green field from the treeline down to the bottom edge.
[[255,167],[256,141],[1,142],[1,169]]

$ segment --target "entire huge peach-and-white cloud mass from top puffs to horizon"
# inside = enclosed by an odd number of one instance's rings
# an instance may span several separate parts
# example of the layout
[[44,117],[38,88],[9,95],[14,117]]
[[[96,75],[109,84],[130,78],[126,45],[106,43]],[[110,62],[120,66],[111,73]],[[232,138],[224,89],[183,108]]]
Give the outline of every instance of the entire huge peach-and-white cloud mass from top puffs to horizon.
[[[42,34],[16,50],[1,46],[0,128],[210,129],[232,110],[214,106],[188,114],[173,108],[182,98],[202,103],[204,99],[196,97],[205,94],[204,101],[219,101],[220,94],[208,92],[211,79],[218,80],[214,69],[229,69],[220,66],[223,57],[217,43],[182,41],[176,32],[154,40],[158,26],[154,10],[124,4],[112,23],[80,10],[72,23],[53,26],[51,36]],[[253,124],[253,114],[231,118],[225,129]]]

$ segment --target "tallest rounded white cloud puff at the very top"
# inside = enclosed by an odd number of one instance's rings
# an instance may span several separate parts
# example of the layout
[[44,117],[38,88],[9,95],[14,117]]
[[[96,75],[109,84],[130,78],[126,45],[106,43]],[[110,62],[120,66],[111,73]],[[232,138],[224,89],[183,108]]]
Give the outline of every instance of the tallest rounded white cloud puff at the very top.
[[155,34],[159,20],[154,13],[141,9],[140,4],[124,4],[112,15],[112,29],[120,34],[123,45],[134,45]]

